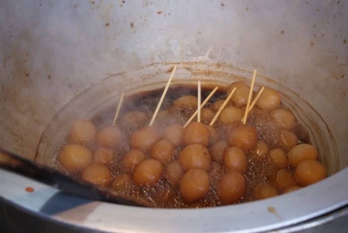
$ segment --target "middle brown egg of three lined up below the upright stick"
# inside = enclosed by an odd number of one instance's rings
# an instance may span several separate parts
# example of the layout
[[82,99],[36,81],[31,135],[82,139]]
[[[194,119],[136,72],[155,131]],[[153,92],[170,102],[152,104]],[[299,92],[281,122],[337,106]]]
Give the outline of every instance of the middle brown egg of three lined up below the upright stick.
[[211,156],[207,147],[202,144],[185,146],[179,155],[179,162],[184,171],[199,168],[205,171],[210,169]]

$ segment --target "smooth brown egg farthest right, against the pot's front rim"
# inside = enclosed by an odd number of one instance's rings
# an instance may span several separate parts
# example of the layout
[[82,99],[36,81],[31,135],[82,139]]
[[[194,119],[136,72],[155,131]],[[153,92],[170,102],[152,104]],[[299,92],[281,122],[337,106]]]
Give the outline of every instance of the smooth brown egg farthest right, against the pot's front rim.
[[326,178],[324,166],[316,160],[303,160],[295,168],[295,176],[300,186],[307,186]]

